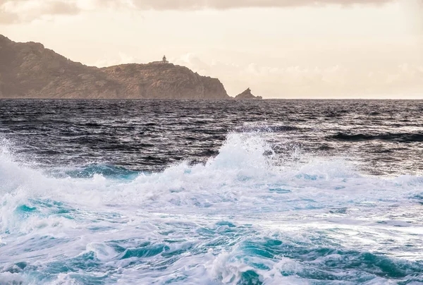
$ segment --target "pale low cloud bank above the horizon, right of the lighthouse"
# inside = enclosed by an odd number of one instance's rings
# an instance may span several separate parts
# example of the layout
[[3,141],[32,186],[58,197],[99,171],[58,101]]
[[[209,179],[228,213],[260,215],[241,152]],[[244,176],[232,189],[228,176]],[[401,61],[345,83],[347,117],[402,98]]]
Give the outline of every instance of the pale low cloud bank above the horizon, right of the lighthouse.
[[[404,62],[396,66],[266,66],[261,63],[236,65],[221,61],[203,61],[185,54],[173,63],[188,66],[202,75],[219,78],[229,95],[251,87],[264,97],[332,97],[386,95],[423,91],[423,66]],[[366,72],[363,71],[366,70]],[[421,93],[420,93],[421,94]],[[411,95],[411,93],[410,93]]]

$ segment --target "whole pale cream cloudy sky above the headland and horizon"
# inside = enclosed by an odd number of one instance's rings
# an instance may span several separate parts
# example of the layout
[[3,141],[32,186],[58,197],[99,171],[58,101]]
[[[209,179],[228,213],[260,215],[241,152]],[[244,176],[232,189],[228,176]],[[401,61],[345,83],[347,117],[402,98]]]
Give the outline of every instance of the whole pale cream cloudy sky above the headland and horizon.
[[0,34],[94,66],[166,54],[232,96],[423,99],[423,0],[0,0]]

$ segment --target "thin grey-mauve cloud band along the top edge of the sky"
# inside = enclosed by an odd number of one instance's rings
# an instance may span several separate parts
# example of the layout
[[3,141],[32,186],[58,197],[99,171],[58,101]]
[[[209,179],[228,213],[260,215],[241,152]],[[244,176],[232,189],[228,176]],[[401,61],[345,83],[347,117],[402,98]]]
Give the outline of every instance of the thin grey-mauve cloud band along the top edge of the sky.
[[[283,8],[337,4],[386,4],[396,0],[0,0],[0,24],[30,22],[43,16],[75,15],[98,8],[136,10],[201,10],[233,8]],[[414,0],[422,1],[422,0]],[[90,7],[90,8],[88,8]]]

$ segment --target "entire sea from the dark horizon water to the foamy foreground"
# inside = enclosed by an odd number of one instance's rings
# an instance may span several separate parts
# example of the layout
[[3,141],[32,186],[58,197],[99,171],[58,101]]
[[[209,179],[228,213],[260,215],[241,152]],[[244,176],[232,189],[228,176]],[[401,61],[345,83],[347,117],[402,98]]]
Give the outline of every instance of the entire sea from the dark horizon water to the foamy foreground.
[[1,99],[0,284],[423,284],[423,101]]

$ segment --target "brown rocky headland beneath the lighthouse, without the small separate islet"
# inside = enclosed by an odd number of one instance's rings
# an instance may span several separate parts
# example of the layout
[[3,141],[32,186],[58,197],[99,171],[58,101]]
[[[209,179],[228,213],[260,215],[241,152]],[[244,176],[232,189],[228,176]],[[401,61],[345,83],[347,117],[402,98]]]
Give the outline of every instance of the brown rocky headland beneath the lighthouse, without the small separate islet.
[[73,62],[42,44],[0,35],[0,98],[231,99],[222,83],[183,66]]

